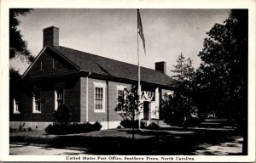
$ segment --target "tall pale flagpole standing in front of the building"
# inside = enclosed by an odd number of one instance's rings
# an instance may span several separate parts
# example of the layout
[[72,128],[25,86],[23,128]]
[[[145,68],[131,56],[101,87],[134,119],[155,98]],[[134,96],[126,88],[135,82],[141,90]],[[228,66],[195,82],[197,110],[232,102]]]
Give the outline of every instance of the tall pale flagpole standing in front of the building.
[[[138,12],[138,9],[137,9]],[[137,13],[138,14],[138,13]],[[137,17],[138,19],[138,17]],[[138,23],[138,20],[137,20]],[[138,26],[138,25],[137,25]],[[139,54],[139,46],[138,46],[138,35],[139,35],[139,31],[137,28],[137,93],[138,93],[138,129],[141,128],[141,121],[140,121],[140,103],[141,103],[141,70],[140,70],[140,54]]]

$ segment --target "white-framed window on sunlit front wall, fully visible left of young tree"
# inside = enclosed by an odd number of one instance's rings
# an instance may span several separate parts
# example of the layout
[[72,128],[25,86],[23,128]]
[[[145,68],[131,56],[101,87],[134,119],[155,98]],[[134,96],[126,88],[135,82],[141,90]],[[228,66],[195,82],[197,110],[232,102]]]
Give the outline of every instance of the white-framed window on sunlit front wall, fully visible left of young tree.
[[105,112],[105,86],[102,82],[94,82],[95,86],[95,112]]

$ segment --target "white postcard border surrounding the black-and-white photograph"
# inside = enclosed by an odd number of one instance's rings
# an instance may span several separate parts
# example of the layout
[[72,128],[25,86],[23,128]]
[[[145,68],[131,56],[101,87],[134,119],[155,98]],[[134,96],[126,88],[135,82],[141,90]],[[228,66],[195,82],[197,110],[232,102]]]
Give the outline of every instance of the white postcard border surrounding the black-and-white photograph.
[[[249,9],[249,62],[248,62],[248,155],[247,156],[193,156],[194,162],[253,162],[255,160],[255,1],[254,0],[2,0],[0,44],[0,138],[1,161],[67,161],[66,156],[9,155],[9,8],[248,8]],[[146,156],[141,156],[146,157]],[[176,156],[173,156],[176,157]],[[100,160],[96,160],[100,161]],[[108,160],[111,161],[111,160]],[[135,160],[132,160],[135,161]],[[147,160],[148,162],[150,160]],[[177,160],[174,160],[177,161]]]

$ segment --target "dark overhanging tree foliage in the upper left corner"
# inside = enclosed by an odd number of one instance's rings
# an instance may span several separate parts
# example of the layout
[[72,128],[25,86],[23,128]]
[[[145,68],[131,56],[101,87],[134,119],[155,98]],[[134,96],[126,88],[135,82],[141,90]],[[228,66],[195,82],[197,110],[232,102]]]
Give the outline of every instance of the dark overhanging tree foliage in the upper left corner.
[[22,39],[20,30],[18,30],[20,20],[17,18],[19,15],[26,16],[26,14],[31,13],[31,11],[32,9],[9,9],[9,59],[13,59],[16,56],[23,56],[26,58],[28,63],[32,62],[34,59],[26,47],[27,42]]

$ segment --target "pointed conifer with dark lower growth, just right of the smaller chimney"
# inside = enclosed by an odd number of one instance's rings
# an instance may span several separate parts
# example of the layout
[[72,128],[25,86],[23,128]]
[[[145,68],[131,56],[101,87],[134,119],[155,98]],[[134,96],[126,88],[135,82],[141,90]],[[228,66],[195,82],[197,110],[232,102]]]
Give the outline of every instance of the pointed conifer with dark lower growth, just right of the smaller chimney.
[[173,87],[176,90],[172,96],[165,96],[162,101],[163,110],[165,112],[164,119],[167,124],[187,126],[187,121],[191,119],[193,111],[193,82],[195,78],[195,70],[192,66],[192,60],[185,59],[181,53],[177,58],[177,65],[174,65],[174,70],[171,70],[175,80]]

